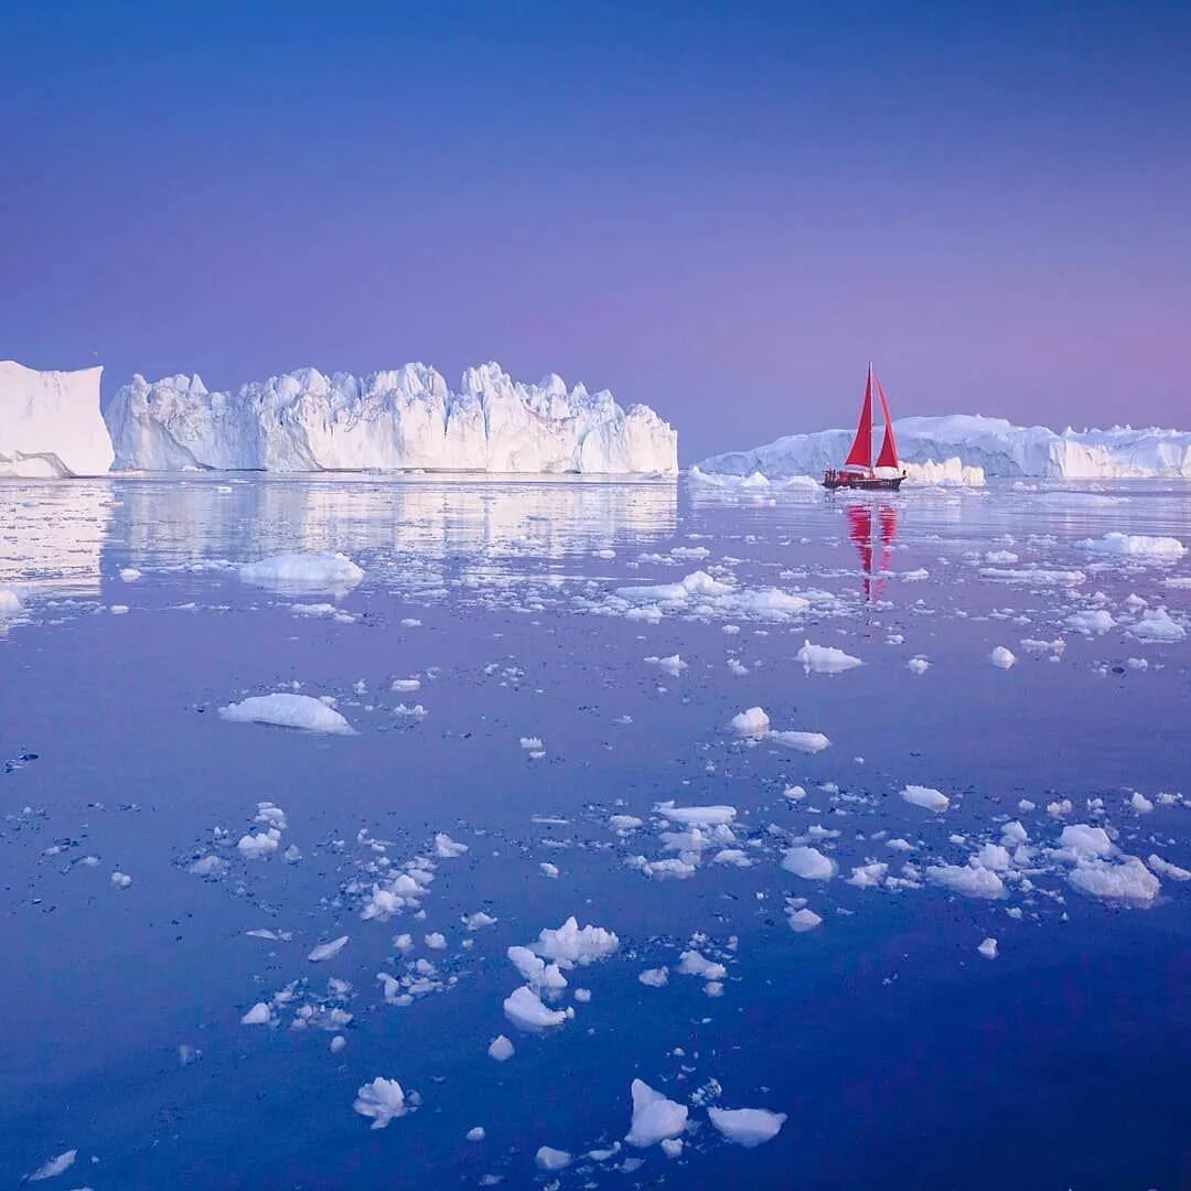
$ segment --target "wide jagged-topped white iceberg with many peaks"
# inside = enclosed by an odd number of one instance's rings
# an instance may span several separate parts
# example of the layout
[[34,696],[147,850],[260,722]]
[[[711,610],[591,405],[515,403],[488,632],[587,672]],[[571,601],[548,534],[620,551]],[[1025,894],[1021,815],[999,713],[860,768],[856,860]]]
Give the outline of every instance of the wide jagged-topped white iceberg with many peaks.
[[678,470],[678,435],[651,409],[560,376],[469,368],[459,391],[425,364],[368,376],[304,368],[236,393],[199,376],[133,376],[104,416],[120,469],[457,470],[594,474]]

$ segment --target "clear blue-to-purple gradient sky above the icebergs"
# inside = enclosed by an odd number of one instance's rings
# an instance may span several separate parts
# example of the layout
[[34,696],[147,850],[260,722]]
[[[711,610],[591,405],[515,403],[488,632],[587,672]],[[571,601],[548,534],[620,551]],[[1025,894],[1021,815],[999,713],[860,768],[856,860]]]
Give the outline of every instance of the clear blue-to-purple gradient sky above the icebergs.
[[0,0],[0,358],[499,361],[684,462],[1191,426],[1191,5]]

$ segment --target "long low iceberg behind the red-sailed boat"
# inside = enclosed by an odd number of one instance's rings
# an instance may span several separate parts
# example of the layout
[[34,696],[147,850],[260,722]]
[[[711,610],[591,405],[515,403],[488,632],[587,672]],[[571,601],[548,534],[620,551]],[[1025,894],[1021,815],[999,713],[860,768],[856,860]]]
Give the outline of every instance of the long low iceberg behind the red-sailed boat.
[[[979,484],[984,475],[1072,480],[1191,478],[1191,432],[1184,430],[1071,430],[1015,426],[1004,418],[953,413],[893,423],[910,480]],[[838,467],[854,430],[788,435],[754,450],[715,455],[698,464],[704,475],[769,480],[822,475]]]

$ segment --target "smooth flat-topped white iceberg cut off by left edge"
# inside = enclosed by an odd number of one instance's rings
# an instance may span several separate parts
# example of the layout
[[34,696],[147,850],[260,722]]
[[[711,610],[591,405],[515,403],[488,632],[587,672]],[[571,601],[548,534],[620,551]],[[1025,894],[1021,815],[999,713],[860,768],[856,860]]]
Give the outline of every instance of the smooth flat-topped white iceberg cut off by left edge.
[[102,370],[43,373],[0,360],[0,475],[100,475],[112,466]]

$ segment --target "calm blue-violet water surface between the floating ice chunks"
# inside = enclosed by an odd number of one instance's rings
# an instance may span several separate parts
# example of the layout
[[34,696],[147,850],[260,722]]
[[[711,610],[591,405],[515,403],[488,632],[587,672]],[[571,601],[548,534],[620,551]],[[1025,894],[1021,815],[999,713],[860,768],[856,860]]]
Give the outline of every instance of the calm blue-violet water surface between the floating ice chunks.
[[[681,484],[0,484],[0,587],[25,605],[0,622],[0,1185],[68,1149],[75,1165],[49,1186],[1191,1185],[1191,883],[1164,877],[1149,908],[1125,908],[1078,892],[1048,858],[1065,824],[1089,823],[1123,853],[1191,867],[1191,638],[1137,640],[1125,604],[1136,593],[1191,628],[1191,591],[1167,584],[1191,575],[1191,555],[1077,545],[1117,530],[1191,543],[1186,490],[867,503]],[[235,565],[288,550],[342,550],[366,578],[338,599],[238,579]],[[1019,561],[989,562],[1006,550]],[[127,567],[141,578],[121,580]],[[692,601],[651,623],[612,598],[697,569],[812,604],[766,621]],[[351,619],[295,616],[295,601]],[[1064,625],[1093,605],[1117,622],[1108,632]],[[1060,635],[1055,662],[1021,646]],[[806,638],[865,665],[806,674]],[[1008,671],[987,661],[998,644],[1017,655]],[[678,675],[644,661],[675,653]],[[922,675],[906,668],[918,654]],[[389,690],[409,675],[418,691]],[[357,735],[218,716],[293,681],[335,697]],[[400,701],[426,715],[394,716]],[[831,746],[749,747],[727,725],[754,705]],[[796,782],[807,797],[792,803]],[[911,782],[946,791],[949,810],[908,805]],[[1130,806],[1134,791],[1152,812]],[[266,799],[299,862],[238,859]],[[718,846],[686,880],[628,865],[673,855],[653,811],[665,799],[736,807],[752,866],[713,862]],[[1062,799],[1072,811],[1048,815]],[[619,837],[613,813],[646,824]],[[1014,818],[1040,852],[1033,887],[1015,875],[1004,899],[847,884],[869,860],[964,865]],[[217,825],[230,844],[213,844]],[[840,833],[816,843],[840,867],[825,883],[780,867],[812,825]],[[439,831],[469,852],[436,861],[425,917],[361,921],[361,865],[430,855]],[[187,871],[212,849],[223,879]],[[114,871],[132,884],[116,888]],[[786,897],[823,924],[792,931]],[[497,924],[466,931],[461,916],[481,909]],[[568,973],[592,992],[562,1002],[573,1021],[528,1035],[501,1012],[522,983],[505,949],[572,913],[619,949]],[[292,937],[245,934],[261,928]],[[404,969],[404,931],[410,958],[454,983],[399,1008],[375,975]],[[425,947],[430,931],[444,950]],[[344,934],[332,961],[307,962]],[[719,997],[674,971],[697,934],[728,968]],[[977,952],[986,936],[993,961]],[[638,983],[663,965],[667,986]],[[292,1010],[275,1028],[241,1024],[294,980],[322,1004],[331,977],[351,983],[342,1031],[291,1029]],[[517,1053],[497,1064],[486,1049],[501,1033]],[[181,1046],[201,1058],[183,1064]],[[353,1111],[376,1075],[422,1102],[384,1130]],[[635,1077],[692,1104],[682,1155],[584,1158],[624,1137]],[[705,1103],[787,1120],[744,1149]],[[484,1141],[464,1140],[473,1125]],[[573,1165],[538,1171],[542,1145]]]

